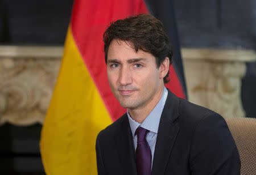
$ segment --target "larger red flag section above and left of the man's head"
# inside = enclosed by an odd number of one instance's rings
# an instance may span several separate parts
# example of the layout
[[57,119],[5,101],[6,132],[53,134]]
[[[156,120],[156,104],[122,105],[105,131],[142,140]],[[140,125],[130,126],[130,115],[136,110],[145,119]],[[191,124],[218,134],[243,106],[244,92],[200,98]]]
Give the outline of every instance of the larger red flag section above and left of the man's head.
[[110,22],[143,13],[148,13],[148,10],[142,0],[79,0],[75,1],[73,6],[73,37],[113,121],[120,117],[125,109],[115,99],[109,87],[102,35]]

